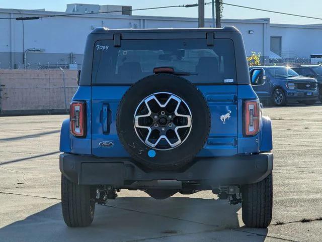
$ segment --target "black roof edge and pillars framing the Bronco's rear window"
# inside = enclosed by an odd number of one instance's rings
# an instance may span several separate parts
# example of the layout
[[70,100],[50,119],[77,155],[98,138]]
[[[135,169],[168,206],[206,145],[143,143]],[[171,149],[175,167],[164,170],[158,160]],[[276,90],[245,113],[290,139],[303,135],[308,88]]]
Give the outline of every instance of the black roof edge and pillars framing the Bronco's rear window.
[[207,39],[209,45],[216,39],[230,39],[233,41],[236,65],[237,84],[250,84],[250,75],[247,65],[246,52],[241,33],[233,26],[224,28],[185,28],[185,29],[112,29],[96,28],[88,35],[80,86],[90,86],[92,81],[93,55],[96,41],[114,41],[114,47],[118,48],[127,40],[159,40],[159,39]]

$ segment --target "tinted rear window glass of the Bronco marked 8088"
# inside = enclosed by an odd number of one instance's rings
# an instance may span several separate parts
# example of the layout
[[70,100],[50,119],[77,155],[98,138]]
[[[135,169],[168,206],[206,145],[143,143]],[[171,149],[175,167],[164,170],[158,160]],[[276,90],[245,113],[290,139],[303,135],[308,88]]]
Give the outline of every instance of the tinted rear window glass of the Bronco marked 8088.
[[235,84],[232,40],[100,40],[94,46],[92,84],[132,84],[152,75],[155,67],[173,67],[193,83]]

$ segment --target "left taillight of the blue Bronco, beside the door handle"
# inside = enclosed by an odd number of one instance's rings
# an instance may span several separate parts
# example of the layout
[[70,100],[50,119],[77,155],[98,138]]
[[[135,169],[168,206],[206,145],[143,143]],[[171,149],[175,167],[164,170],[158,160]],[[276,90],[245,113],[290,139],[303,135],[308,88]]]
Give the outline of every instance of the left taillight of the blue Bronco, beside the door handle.
[[73,101],[70,103],[69,115],[70,133],[76,137],[86,136],[86,102]]

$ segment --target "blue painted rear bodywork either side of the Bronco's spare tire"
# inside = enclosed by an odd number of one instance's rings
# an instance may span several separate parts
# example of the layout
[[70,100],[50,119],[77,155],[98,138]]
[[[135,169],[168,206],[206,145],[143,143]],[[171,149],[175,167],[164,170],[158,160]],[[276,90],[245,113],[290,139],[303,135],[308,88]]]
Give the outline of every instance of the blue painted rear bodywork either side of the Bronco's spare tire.
[[[72,100],[86,100],[87,135],[76,138],[69,134],[69,123],[63,122],[60,151],[94,155],[97,157],[129,157],[116,131],[116,113],[119,102],[129,86],[79,86]],[[243,102],[257,99],[251,85],[199,85],[209,105],[211,114],[210,134],[199,157],[233,156],[258,153],[272,148],[270,119],[263,117],[261,131],[254,137],[243,135]],[[220,116],[230,112],[223,124]],[[99,146],[110,141],[111,147]]]

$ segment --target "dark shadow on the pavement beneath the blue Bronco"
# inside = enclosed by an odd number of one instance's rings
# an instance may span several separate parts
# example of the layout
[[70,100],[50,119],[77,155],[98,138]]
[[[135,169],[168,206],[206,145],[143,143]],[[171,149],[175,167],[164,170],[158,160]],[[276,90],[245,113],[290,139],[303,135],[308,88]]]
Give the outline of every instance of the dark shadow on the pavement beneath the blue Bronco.
[[[61,203],[0,229],[0,241],[132,241],[132,240],[247,240],[264,241],[266,230],[239,228],[240,205],[215,199],[172,197],[121,197],[97,205],[93,224],[69,228],[63,222]],[[226,229],[226,230],[224,230]],[[218,231],[218,232],[216,232]],[[207,237],[209,236],[209,237]]]

